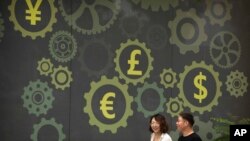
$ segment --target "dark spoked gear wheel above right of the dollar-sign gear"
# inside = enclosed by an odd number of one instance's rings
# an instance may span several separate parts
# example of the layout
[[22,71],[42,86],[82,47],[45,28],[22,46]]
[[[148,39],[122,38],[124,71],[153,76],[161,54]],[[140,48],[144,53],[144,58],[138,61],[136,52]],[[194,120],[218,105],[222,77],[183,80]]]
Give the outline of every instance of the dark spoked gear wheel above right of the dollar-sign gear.
[[[230,36],[230,40],[228,37]],[[216,41],[220,43],[215,43]],[[236,50],[237,48],[237,50]],[[213,53],[213,51],[216,51]],[[220,54],[218,55],[218,52]],[[238,63],[241,56],[241,45],[239,39],[231,32],[221,31],[213,36],[210,42],[209,48],[210,56],[213,62],[221,68],[231,68]],[[231,56],[231,59],[230,59]],[[234,57],[232,57],[234,56]],[[235,58],[232,60],[232,58]],[[226,60],[226,63],[221,63],[222,60]]]

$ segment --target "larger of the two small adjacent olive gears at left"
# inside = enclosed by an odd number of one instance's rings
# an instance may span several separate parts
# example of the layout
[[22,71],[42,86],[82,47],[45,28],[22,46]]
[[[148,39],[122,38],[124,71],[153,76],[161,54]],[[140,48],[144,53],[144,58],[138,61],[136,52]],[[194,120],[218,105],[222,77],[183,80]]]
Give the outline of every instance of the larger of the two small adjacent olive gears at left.
[[71,75],[72,72],[68,67],[62,67],[60,65],[58,68],[54,68],[54,71],[51,74],[51,83],[56,86],[56,89],[64,90],[65,88],[70,87],[70,82],[73,81]]

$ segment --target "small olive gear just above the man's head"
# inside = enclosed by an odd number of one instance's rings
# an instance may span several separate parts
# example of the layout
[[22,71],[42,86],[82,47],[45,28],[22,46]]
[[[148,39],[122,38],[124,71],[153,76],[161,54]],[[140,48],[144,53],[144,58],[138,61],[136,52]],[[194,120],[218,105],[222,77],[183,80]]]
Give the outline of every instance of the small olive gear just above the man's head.
[[177,117],[179,113],[183,112],[183,101],[181,101],[178,97],[170,98],[166,103],[167,113],[171,115],[171,117]]

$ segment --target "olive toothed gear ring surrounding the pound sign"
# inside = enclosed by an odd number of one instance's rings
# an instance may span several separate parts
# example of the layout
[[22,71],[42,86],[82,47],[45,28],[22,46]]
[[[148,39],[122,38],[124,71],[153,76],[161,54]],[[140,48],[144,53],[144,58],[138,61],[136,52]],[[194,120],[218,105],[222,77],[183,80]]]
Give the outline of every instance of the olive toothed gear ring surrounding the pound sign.
[[[144,50],[144,52],[146,53],[147,58],[148,58],[147,71],[144,73],[144,75],[142,75],[142,77],[136,78],[136,79],[129,78],[125,74],[123,74],[121,67],[120,67],[120,63],[119,63],[120,56],[121,56],[121,53],[123,52],[123,50],[126,47],[129,47],[132,45],[136,45],[137,47],[140,47],[142,50]],[[138,39],[135,39],[135,40],[128,39],[126,43],[121,43],[120,48],[118,50],[116,50],[116,57],[114,59],[114,62],[116,64],[115,70],[119,73],[119,78],[125,79],[126,83],[132,83],[134,85],[136,85],[137,83],[143,83],[146,78],[150,77],[150,72],[153,70],[152,62],[154,59],[152,58],[152,56],[150,56],[150,53],[151,53],[151,51],[150,51],[150,49],[147,49],[145,43],[139,42]]]

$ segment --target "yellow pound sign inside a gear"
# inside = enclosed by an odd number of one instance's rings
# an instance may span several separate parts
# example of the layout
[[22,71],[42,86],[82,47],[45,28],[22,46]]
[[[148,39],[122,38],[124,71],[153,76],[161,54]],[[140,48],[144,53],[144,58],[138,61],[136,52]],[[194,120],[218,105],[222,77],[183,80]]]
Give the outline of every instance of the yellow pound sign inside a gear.
[[130,60],[128,60],[128,64],[130,64],[129,70],[127,71],[127,74],[129,75],[142,75],[142,71],[135,70],[135,65],[139,64],[138,60],[135,60],[135,56],[139,54],[141,55],[141,50],[133,50],[133,52],[130,55]]

